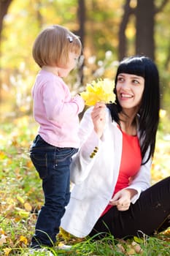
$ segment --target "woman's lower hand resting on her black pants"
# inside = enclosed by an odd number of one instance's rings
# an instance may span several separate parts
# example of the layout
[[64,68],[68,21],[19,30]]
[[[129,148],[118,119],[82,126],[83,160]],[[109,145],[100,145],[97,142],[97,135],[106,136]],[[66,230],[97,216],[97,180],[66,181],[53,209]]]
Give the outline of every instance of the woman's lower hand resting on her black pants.
[[135,189],[123,189],[117,192],[109,201],[112,206],[117,206],[119,211],[127,211],[131,205],[131,197],[136,194]]

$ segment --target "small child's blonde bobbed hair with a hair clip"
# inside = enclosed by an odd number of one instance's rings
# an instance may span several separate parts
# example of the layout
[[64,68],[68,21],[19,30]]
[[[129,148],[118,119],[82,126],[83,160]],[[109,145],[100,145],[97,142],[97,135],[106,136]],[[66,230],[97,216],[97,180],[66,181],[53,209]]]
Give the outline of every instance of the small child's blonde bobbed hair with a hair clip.
[[33,58],[39,67],[52,66],[66,68],[69,53],[80,56],[82,44],[79,37],[63,26],[53,25],[44,29],[33,45]]

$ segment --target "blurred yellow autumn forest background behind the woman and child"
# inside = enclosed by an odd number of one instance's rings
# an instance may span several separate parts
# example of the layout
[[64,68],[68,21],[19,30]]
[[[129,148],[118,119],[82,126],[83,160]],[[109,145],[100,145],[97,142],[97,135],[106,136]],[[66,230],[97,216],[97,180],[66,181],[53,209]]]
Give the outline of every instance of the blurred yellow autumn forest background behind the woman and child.
[[[161,79],[160,124],[152,163],[155,183],[170,175],[169,23],[169,0],[0,0],[0,255],[25,253],[43,201],[28,156],[37,129],[31,87],[39,67],[31,49],[39,31],[60,24],[80,36],[82,56],[66,78],[72,94],[94,79],[114,80],[117,64],[126,56],[144,54],[155,61]],[[165,244],[156,241],[153,254],[146,240],[136,240],[143,246],[139,254],[155,256],[156,249],[158,253],[163,249],[160,255],[169,255],[167,234],[161,239]],[[131,243],[121,246],[115,246],[115,254],[102,254],[96,247],[86,252],[83,247],[77,255],[136,255]]]

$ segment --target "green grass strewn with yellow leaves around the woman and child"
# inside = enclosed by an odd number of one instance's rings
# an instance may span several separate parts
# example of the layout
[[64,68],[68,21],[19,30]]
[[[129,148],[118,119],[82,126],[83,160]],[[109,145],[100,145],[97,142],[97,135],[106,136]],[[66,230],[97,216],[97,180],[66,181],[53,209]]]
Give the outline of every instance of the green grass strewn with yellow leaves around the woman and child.
[[[39,176],[29,159],[28,151],[36,135],[36,124],[28,117],[1,122],[0,127],[0,255],[28,255],[28,246],[34,233],[36,214],[43,203],[42,186]],[[163,140],[159,133],[158,148],[154,167],[163,173],[154,172],[154,181],[167,176],[169,164],[161,162],[169,159],[169,141]],[[166,173],[167,171],[167,173]],[[160,173],[160,172],[158,172]],[[170,232],[143,236],[131,240],[115,240],[112,236],[100,241],[77,239],[61,231],[58,243],[72,244],[72,250],[55,250],[54,255],[170,255]],[[139,247],[139,248],[138,248]],[[141,249],[136,252],[136,248]]]

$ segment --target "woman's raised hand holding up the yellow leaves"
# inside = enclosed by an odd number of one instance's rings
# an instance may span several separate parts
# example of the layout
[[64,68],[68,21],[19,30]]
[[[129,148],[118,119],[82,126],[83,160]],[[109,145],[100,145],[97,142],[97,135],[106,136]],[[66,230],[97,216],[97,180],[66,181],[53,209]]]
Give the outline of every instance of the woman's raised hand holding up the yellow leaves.
[[104,124],[106,121],[106,105],[102,102],[96,103],[91,113],[93,120],[94,130],[99,138],[101,138],[104,132]]

